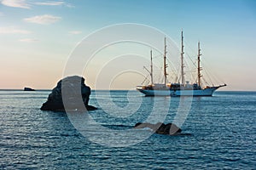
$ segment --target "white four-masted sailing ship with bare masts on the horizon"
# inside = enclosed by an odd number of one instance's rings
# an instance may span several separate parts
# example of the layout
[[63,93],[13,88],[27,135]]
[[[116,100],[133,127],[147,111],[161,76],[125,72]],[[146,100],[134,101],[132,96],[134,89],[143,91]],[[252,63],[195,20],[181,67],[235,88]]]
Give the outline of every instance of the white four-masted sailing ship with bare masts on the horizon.
[[152,62],[152,50],[150,51],[150,77],[151,83],[146,86],[137,86],[137,90],[146,96],[212,96],[212,94],[218,89],[226,86],[206,86],[202,87],[201,83],[201,48],[200,42],[198,42],[198,54],[197,54],[197,82],[189,83],[185,81],[184,73],[184,45],[183,45],[183,31],[182,31],[182,44],[181,44],[181,82],[167,83],[167,72],[166,72],[166,37],[165,37],[165,52],[164,52],[164,83],[153,82],[153,62]]

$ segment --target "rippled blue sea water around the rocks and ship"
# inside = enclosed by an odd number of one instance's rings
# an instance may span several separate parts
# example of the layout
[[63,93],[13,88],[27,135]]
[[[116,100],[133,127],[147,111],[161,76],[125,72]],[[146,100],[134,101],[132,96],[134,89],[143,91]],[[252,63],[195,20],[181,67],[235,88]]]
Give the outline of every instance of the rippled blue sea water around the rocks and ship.
[[[142,129],[132,131],[126,145],[106,133],[92,138],[97,129],[86,136],[65,113],[40,111],[49,93],[0,91],[1,169],[256,168],[255,92],[216,92],[185,105],[181,98],[143,97],[137,91],[93,92],[90,105],[102,109],[89,115],[121,139],[137,122],[172,122],[183,111],[184,135],[152,134],[132,143],[151,134]],[[123,147],[113,147],[119,143]]]

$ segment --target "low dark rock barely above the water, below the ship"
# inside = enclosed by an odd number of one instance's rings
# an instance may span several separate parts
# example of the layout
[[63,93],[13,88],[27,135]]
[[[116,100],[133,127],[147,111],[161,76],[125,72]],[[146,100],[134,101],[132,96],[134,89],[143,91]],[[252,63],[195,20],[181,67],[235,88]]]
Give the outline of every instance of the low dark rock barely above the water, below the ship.
[[151,128],[154,133],[158,134],[177,134],[181,133],[182,129],[177,127],[174,123],[168,123],[164,124],[162,122],[158,122],[156,124],[148,123],[148,122],[137,122],[137,124],[134,126],[134,128]]

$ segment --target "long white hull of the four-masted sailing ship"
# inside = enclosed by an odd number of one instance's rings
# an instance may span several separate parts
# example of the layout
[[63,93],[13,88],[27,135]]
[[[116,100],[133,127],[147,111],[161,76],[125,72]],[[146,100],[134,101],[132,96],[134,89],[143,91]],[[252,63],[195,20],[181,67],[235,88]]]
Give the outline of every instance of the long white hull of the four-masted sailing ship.
[[217,90],[218,87],[196,89],[196,90],[151,90],[137,88],[138,91],[145,94],[146,96],[212,96],[212,94]]

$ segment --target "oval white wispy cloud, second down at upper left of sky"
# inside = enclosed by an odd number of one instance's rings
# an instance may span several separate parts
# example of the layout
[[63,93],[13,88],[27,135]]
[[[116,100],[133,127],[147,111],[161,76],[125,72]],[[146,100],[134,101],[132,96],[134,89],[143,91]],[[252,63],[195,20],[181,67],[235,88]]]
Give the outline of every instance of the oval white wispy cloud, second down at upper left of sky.
[[49,25],[57,22],[58,20],[61,20],[61,17],[44,14],[44,15],[33,16],[31,18],[26,18],[24,20],[26,22],[31,22],[35,24]]

